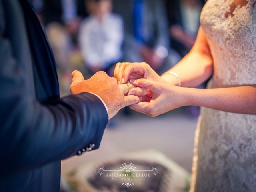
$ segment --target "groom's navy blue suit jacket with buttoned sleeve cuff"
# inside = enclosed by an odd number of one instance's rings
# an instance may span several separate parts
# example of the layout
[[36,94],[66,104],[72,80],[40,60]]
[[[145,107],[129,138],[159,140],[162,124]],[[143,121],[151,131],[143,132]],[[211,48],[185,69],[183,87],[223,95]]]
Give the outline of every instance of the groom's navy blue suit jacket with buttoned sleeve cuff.
[[58,192],[60,160],[100,145],[108,114],[90,93],[59,98],[54,57],[27,0],[0,0],[0,190]]

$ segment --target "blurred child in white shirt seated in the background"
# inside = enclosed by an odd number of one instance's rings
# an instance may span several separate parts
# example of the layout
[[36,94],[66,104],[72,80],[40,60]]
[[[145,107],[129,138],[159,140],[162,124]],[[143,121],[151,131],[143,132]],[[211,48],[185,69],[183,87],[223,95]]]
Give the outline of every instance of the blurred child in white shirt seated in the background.
[[78,43],[91,74],[105,71],[113,75],[114,65],[122,57],[123,22],[112,13],[111,0],[87,0],[90,16],[79,30]]

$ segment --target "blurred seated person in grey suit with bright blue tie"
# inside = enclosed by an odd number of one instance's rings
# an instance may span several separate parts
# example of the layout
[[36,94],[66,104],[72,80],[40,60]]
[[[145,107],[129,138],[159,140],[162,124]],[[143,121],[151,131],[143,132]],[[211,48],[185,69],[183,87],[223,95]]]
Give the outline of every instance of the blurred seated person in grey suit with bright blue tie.
[[170,56],[168,22],[162,0],[113,0],[124,20],[124,62],[147,62],[158,73],[176,64]]

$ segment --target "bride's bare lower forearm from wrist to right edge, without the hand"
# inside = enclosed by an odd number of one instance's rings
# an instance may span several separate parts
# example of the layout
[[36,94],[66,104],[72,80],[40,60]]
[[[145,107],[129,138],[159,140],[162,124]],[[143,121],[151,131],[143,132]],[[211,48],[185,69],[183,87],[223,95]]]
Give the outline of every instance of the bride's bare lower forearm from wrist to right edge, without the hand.
[[190,105],[256,115],[256,86],[216,89],[187,88],[187,97]]

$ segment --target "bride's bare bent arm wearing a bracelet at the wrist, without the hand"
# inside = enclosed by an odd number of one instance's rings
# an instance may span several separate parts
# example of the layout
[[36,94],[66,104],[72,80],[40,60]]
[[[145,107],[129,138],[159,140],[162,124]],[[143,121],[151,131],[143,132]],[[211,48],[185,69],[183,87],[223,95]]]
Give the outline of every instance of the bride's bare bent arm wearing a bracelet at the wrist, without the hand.
[[[212,55],[201,27],[191,51],[169,71],[178,74],[183,87],[196,87],[212,75]],[[178,80],[173,75],[165,73],[161,77],[167,83],[178,85]]]

